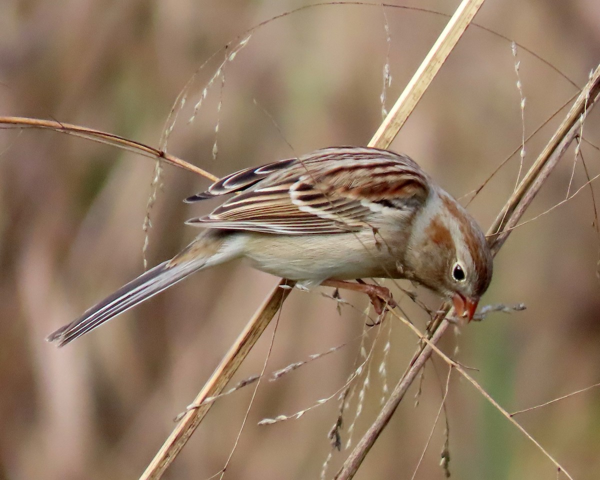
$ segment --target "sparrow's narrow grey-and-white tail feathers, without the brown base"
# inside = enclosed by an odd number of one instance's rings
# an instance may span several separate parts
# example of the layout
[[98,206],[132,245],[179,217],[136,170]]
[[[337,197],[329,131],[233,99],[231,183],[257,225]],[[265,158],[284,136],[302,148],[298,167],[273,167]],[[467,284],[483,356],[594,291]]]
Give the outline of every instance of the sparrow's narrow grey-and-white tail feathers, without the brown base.
[[78,319],[48,335],[46,340],[62,347],[125,310],[135,307],[151,296],[183,280],[188,275],[201,269],[205,264],[206,259],[197,259],[175,265],[171,263],[171,260],[160,263],[160,265],[125,284],[94,307],[86,310]]

